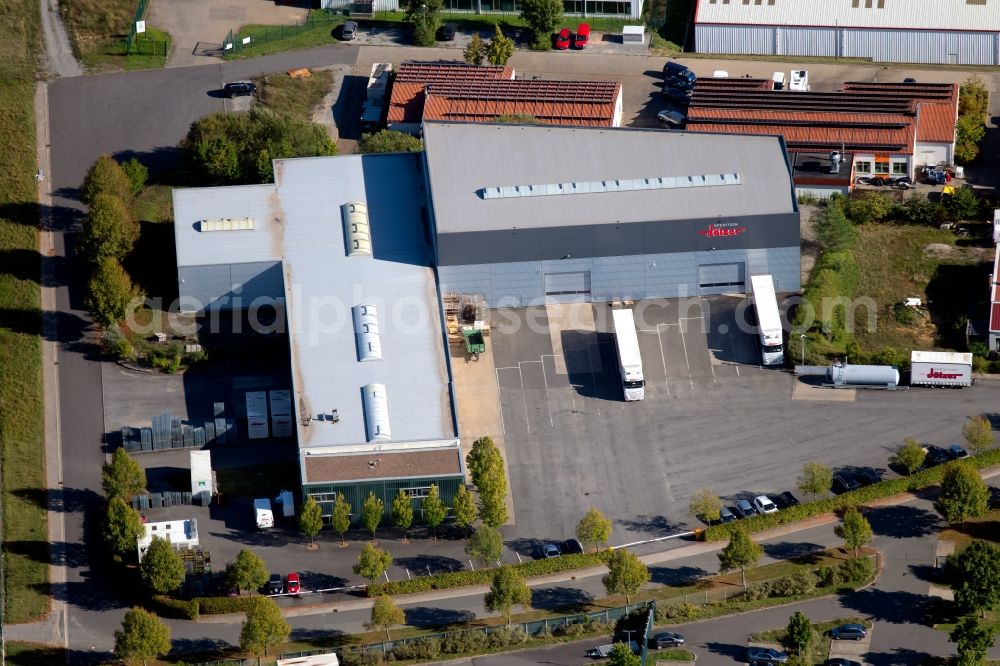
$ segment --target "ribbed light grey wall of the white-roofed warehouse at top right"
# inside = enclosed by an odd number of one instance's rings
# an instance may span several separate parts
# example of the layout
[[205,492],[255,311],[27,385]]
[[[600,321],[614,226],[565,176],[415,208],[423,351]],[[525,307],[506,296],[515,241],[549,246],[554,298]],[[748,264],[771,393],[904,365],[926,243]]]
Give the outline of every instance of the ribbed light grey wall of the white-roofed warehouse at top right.
[[875,62],[1000,64],[1000,32],[739,25],[695,26],[698,53],[835,56]]

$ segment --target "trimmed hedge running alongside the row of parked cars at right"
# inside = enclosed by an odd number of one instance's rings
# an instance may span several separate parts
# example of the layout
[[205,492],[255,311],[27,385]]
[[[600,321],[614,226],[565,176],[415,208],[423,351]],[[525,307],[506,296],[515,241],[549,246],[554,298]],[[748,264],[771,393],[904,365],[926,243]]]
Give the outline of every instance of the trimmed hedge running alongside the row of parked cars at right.
[[[976,469],[984,469],[1000,464],[1000,448],[990,449],[989,451],[969,456],[963,462],[972,465]],[[901,495],[937,486],[941,484],[947,467],[947,464],[931,467],[910,476],[891,479],[889,481],[880,481],[879,483],[874,483],[870,486],[844,493],[843,495],[828,497],[817,502],[800,504],[782,509],[777,513],[756,515],[724,525],[712,525],[705,530],[705,540],[722,541],[728,539],[735,527],[742,527],[748,532],[759,532],[771,529],[772,527],[778,527],[779,525],[796,523],[800,520],[812,518],[813,516],[830,513],[831,511],[846,509],[849,506],[858,506],[867,502],[892,497],[893,495]]]

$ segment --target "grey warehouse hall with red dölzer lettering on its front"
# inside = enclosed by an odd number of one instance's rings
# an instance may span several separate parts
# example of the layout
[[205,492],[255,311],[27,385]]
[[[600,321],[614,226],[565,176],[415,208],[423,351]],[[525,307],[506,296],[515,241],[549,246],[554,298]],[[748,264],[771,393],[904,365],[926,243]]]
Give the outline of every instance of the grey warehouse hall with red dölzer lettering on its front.
[[429,123],[424,139],[445,292],[518,307],[744,292],[751,274],[799,289],[779,137]]

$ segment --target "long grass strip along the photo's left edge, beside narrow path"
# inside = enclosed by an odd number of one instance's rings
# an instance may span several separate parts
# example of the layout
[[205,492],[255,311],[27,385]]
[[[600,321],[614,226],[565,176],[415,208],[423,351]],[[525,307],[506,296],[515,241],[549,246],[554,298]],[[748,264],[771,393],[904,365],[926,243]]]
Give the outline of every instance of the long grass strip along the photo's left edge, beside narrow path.
[[48,527],[44,509],[41,302],[34,92],[42,48],[38,3],[0,11],[0,458],[3,463],[5,620],[44,615]]

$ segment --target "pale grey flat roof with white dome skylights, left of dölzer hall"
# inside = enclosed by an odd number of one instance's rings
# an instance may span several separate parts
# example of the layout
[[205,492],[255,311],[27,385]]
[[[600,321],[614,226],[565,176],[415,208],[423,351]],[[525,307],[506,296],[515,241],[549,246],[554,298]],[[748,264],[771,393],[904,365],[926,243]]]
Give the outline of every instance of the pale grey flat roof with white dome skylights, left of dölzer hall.
[[[300,447],[366,442],[368,384],[386,387],[392,442],[456,437],[420,157],[277,160],[275,180],[175,191],[177,261],[282,260]],[[346,256],[349,201],[368,205],[371,257]],[[207,217],[250,217],[254,229],[198,231]],[[358,361],[351,308],[360,304],[378,310],[381,360]],[[320,420],[334,410],[338,421]]]

